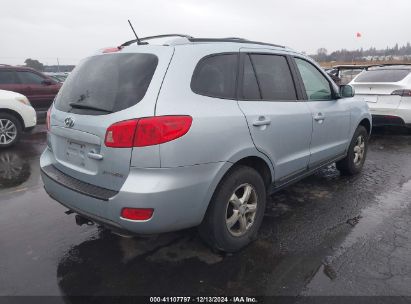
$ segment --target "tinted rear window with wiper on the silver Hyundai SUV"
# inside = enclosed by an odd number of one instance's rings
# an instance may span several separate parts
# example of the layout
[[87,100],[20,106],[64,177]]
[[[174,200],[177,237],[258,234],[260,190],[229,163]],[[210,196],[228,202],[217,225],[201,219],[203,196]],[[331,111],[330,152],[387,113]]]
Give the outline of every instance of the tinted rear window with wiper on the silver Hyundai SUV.
[[86,58],[70,73],[55,106],[78,114],[107,114],[143,99],[158,64],[153,54],[110,54]]

